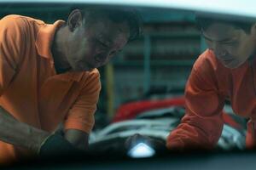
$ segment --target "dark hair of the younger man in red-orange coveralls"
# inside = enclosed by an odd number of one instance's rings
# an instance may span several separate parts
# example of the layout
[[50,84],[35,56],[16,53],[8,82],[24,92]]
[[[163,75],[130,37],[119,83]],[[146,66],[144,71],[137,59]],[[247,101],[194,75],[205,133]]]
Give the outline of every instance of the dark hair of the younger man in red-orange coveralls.
[[250,33],[253,24],[256,23],[256,20],[241,20],[236,17],[224,17],[216,14],[195,14],[195,23],[196,26],[203,31],[206,31],[207,28],[212,26],[214,23],[222,23],[242,29],[246,33]]

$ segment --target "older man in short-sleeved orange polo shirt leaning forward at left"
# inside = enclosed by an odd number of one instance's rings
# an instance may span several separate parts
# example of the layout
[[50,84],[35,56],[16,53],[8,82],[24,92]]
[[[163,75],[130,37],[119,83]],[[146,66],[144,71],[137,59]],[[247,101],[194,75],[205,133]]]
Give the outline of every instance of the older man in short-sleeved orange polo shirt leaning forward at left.
[[[140,34],[132,9],[75,9],[67,22],[0,20],[0,162],[85,149],[101,89],[97,67]],[[53,134],[63,122],[64,137]]]

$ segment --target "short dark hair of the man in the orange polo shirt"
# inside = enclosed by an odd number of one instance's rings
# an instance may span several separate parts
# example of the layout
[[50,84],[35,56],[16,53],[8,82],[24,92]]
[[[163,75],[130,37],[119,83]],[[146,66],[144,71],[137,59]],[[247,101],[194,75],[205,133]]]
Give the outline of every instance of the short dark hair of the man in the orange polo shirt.
[[[74,8],[76,7],[73,7],[72,10]],[[127,22],[128,26],[130,27],[130,37],[128,38],[128,42],[131,42],[132,40],[141,37],[143,34],[142,17],[135,8],[89,6],[79,9],[81,10],[85,20],[88,19],[88,21],[107,17],[114,23]]]

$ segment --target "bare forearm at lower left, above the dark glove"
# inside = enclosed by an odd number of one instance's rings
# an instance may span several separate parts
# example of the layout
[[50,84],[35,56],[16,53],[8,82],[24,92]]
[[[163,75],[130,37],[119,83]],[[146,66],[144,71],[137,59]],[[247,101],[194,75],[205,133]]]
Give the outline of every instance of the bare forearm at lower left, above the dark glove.
[[37,151],[49,133],[19,122],[0,107],[0,140]]

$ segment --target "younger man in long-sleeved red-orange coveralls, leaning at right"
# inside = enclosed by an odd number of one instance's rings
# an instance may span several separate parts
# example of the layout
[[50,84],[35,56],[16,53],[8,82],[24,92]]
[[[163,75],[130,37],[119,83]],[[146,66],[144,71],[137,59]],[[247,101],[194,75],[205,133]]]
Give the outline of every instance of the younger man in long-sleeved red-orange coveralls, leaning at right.
[[199,56],[185,89],[186,114],[167,138],[169,149],[211,149],[224,121],[224,100],[233,111],[249,118],[247,147],[256,135],[256,22],[198,16],[208,49]]

